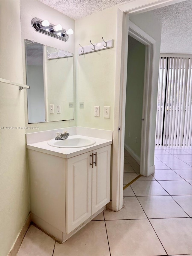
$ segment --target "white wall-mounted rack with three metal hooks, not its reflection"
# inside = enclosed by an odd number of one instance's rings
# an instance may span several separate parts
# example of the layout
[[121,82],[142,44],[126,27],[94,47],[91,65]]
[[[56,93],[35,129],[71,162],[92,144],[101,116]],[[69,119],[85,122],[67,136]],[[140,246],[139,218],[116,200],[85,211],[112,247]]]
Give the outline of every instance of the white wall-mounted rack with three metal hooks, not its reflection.
[[87,45],[87,46],[83,46],[83,47],[79,44],[81,47],[81,48],[79,48],[79,55],[113,48],[113,39],[105,41],[102,37],[102,40],[103,40],[103,42],[97,43],[97,44],[92,44],[91,40],[90,40],[91,45]]

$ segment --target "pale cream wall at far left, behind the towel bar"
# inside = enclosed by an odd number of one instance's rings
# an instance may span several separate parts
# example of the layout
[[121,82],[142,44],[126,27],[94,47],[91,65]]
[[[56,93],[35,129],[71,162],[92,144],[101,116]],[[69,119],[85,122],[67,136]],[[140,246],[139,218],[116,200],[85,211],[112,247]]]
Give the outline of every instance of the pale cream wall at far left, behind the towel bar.
[[[23,83],[19,0],[0,1],[0,77]],[[25,126],[24,90],[0,83],[0,124]],[[25,130],[0,129],[0,254],[7,256],[27,215]]]

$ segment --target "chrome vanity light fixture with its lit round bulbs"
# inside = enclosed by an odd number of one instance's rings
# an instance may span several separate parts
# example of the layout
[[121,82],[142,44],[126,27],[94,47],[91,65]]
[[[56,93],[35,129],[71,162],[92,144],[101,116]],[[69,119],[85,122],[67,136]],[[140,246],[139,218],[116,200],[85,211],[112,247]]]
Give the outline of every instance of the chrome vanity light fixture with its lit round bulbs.
[[73,34],[72,29],[66,30],[62,28],[61,24],[54,25],[49,23],[48,20],[41,20],[36,17],[32,19],[32,26],[37,32],[50,35],[62,41],[67,41],[69,35]]

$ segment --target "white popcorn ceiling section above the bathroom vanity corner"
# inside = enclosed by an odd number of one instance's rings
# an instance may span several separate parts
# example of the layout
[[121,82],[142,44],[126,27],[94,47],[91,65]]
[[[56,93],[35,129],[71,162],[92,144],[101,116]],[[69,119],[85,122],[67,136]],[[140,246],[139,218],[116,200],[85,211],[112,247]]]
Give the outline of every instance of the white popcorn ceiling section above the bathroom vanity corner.
[[39,0],[77,20],[94,12],[133,0]]

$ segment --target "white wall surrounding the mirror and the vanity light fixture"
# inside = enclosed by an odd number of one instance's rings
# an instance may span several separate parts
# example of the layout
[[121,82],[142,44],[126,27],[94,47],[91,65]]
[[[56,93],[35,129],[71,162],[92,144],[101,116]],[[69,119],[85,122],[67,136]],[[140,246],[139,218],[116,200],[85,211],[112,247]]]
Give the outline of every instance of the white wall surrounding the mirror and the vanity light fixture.
[[[22,55],[23,55],[23,75],[24,83],[26,82],[26,68],[25,68],[25,39],[34,40],[40,44],[45,44],[57,49],[69,51],[75,53],[75,20],[67,17],[59,11],[41,3],[38,0],[20,0],[21,3],[21,35],[22,35]],[[57,38],[52,38],[48,35],[36,32],[31,25],[31,20],[34,17],[38,17],[43,20],[49,20],[53,24],[61,24],[64,29],[72,28],[74,31],[73,35],[70,35],[69,40],[64,42]],[[74,90],[75,91],[75,90]],[[74,108],[75,110],[75,108]],[[25,119],[26,126],[39,126],[38,131],[51,130],[56,128],[70,127],[76,125],[76,113],[75,120],[72,121],[60,121],[60,122],[46,122],[29,125],[27,118],[27,96],[25,94]],[[26,130],[31,132],[31,130]]]

